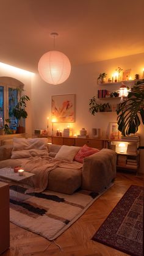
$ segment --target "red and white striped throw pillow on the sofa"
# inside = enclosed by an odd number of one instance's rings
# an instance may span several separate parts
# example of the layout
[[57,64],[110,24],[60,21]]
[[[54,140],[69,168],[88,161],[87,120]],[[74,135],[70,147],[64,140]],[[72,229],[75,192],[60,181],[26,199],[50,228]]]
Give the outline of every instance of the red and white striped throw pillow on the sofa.
[[87,145],[84,145],[83,147],[81,147],[79,152],[77,152],[77,154],[74,156],[74,160],[76,160],[77,162],[83,163],[85,157],[91,156],[98,152],[99,152],[98,148],[90,148]]

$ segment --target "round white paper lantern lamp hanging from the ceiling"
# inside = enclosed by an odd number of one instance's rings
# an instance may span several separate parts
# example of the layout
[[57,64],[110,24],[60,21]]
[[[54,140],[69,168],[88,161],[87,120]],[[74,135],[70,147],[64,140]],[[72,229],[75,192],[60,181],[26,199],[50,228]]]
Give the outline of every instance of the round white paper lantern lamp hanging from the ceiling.
[[48,51],[38,62],[38,72],[45,82],[62,84],[70,76],[70,60],[60,51]]

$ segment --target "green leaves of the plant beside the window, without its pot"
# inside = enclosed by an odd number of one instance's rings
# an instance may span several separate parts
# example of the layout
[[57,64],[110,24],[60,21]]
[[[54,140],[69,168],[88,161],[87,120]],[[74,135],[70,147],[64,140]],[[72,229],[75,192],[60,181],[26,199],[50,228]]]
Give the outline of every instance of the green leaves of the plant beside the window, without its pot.
[[20,119],[26,119],[27,118],[27,112],[24,108],[26,108],[26,102],[29,101],[29,97],[27,95],[21,95],[21,93],[24,91],[21,88],[18,88],[18,93],[20,95],[20,100],[18,101],[18,104],[16,104],[15,108],[13,108],[12,112],[13,115],[16,117],[16,119],[19,121],[20,125]]

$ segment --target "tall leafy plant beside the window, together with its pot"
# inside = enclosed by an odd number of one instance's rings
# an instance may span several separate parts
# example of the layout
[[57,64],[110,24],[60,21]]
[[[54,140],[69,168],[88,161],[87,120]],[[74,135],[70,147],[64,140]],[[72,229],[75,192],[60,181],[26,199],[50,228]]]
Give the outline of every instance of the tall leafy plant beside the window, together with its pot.
[[13,112],[13,115],[16,117],[17,121],[18,121],[18,126],[16,128],[16,133],[24,133],[25,128],[21,125],[21,121],[22,121],[22,119],[27,118],[27,112],[25,110],[26,101],[29,101],[30,99],[27,95],[22,95],[22,92],[24,91],[23,89],[18,88],[17,90],[18,90],[20,100],[16,104],[15,108],[13,108],[12,112]]

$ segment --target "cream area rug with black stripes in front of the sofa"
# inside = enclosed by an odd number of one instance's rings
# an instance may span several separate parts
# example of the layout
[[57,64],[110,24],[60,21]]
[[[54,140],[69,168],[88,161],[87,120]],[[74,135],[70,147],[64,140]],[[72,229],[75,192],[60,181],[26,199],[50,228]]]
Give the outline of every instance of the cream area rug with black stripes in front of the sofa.
[[10,186],[10,222],[48,240],[56,239],[67,230],[105,192],[79,190],[67,195],[44,191],[24,196],[21,191],[24,193],[21,187]]

